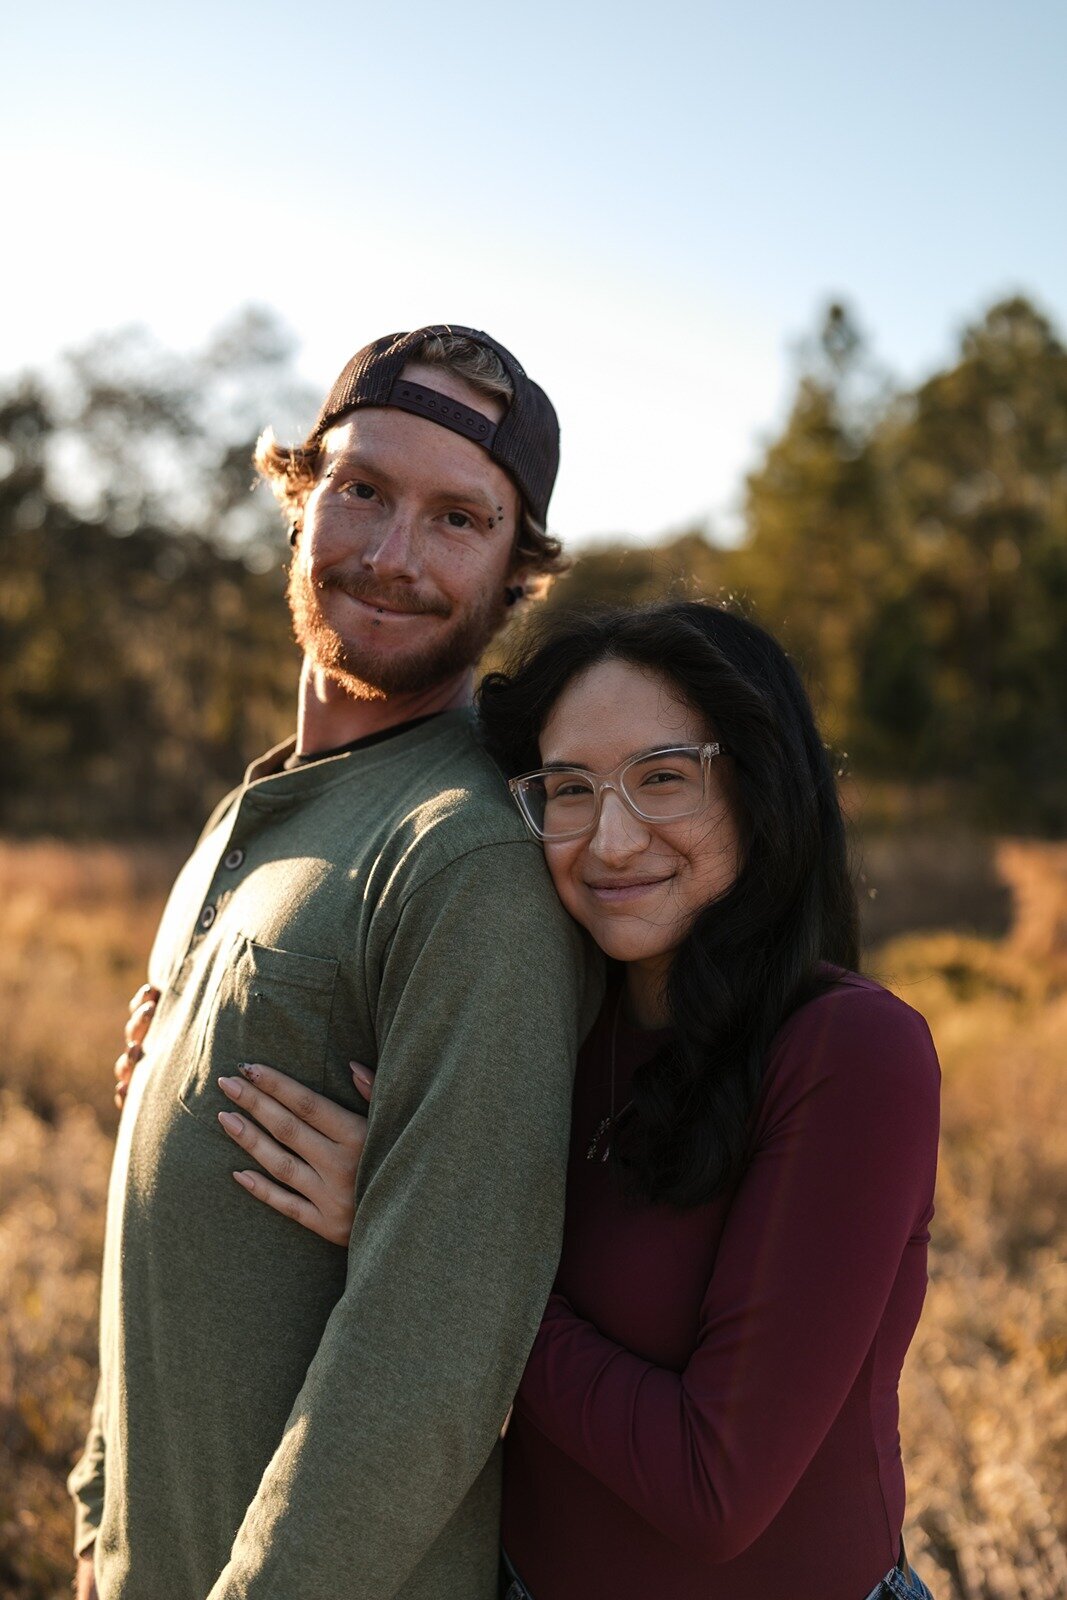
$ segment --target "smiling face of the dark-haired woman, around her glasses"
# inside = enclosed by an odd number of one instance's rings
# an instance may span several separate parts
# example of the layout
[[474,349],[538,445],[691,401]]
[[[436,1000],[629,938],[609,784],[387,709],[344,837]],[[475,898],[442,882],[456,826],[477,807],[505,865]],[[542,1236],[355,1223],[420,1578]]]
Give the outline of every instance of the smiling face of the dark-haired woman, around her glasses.
[[[601,661],[573,678],[541,733],[541,760],[590,773],[673,744],[705,744],[715,731],[657,672]],[[605,789],[595,832],[545,842],[557,894],[601,950],[662,976],[694,915],[734,882],[739,832],[726,798],[723,758],[709,766],[694,816],[645,822]]]

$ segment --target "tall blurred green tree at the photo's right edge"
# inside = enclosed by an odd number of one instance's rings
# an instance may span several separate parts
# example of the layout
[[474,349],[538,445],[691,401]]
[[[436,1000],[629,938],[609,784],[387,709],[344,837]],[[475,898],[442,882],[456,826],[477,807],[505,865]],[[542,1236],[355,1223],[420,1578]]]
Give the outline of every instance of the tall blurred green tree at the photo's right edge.
[[961,784],[989,818],[1067,821],[1067,352],[1025,299],[888,414],[880,605],[859,651],[856,752]]

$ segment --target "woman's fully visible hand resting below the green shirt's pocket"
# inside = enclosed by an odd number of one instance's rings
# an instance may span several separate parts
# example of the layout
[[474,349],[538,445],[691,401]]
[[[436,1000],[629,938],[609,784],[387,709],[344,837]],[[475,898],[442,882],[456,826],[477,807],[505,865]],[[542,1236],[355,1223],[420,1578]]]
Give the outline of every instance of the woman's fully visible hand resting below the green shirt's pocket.
[[[350,1061],[349,1067],[357,1090],[370,1101],[374,1074],[358,1061]],[[234,1178],[282,1216],[333,1245],[347,1245],[366,1117],[346,1110],[277,1067],[250,1064],[240,1074],[238,1078],[219,1078],[219,1088],[243,1115],[221,1110],[219,1123],[272,1178],[253,1171],[234,1173]]]

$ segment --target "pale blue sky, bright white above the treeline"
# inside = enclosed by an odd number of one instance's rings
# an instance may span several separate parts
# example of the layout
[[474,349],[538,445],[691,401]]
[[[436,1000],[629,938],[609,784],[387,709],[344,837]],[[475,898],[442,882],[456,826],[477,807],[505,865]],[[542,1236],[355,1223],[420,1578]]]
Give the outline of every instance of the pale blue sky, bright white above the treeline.
[[731,536],[835,298],[901,384],[1009,293],[1067,333],[1062,0],[53,0],[0,45],[0,376],[248,302],[323,392],[485,328],[577,546]]

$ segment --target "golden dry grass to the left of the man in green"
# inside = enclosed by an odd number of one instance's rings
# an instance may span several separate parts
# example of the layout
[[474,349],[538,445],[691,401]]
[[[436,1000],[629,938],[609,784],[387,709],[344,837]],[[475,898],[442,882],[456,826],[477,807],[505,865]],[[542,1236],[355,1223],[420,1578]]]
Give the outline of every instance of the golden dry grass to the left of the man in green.
[[69,1594],[110,1064],[171,870],[168,851],[0,845],[0,1594],[19,1600]]

